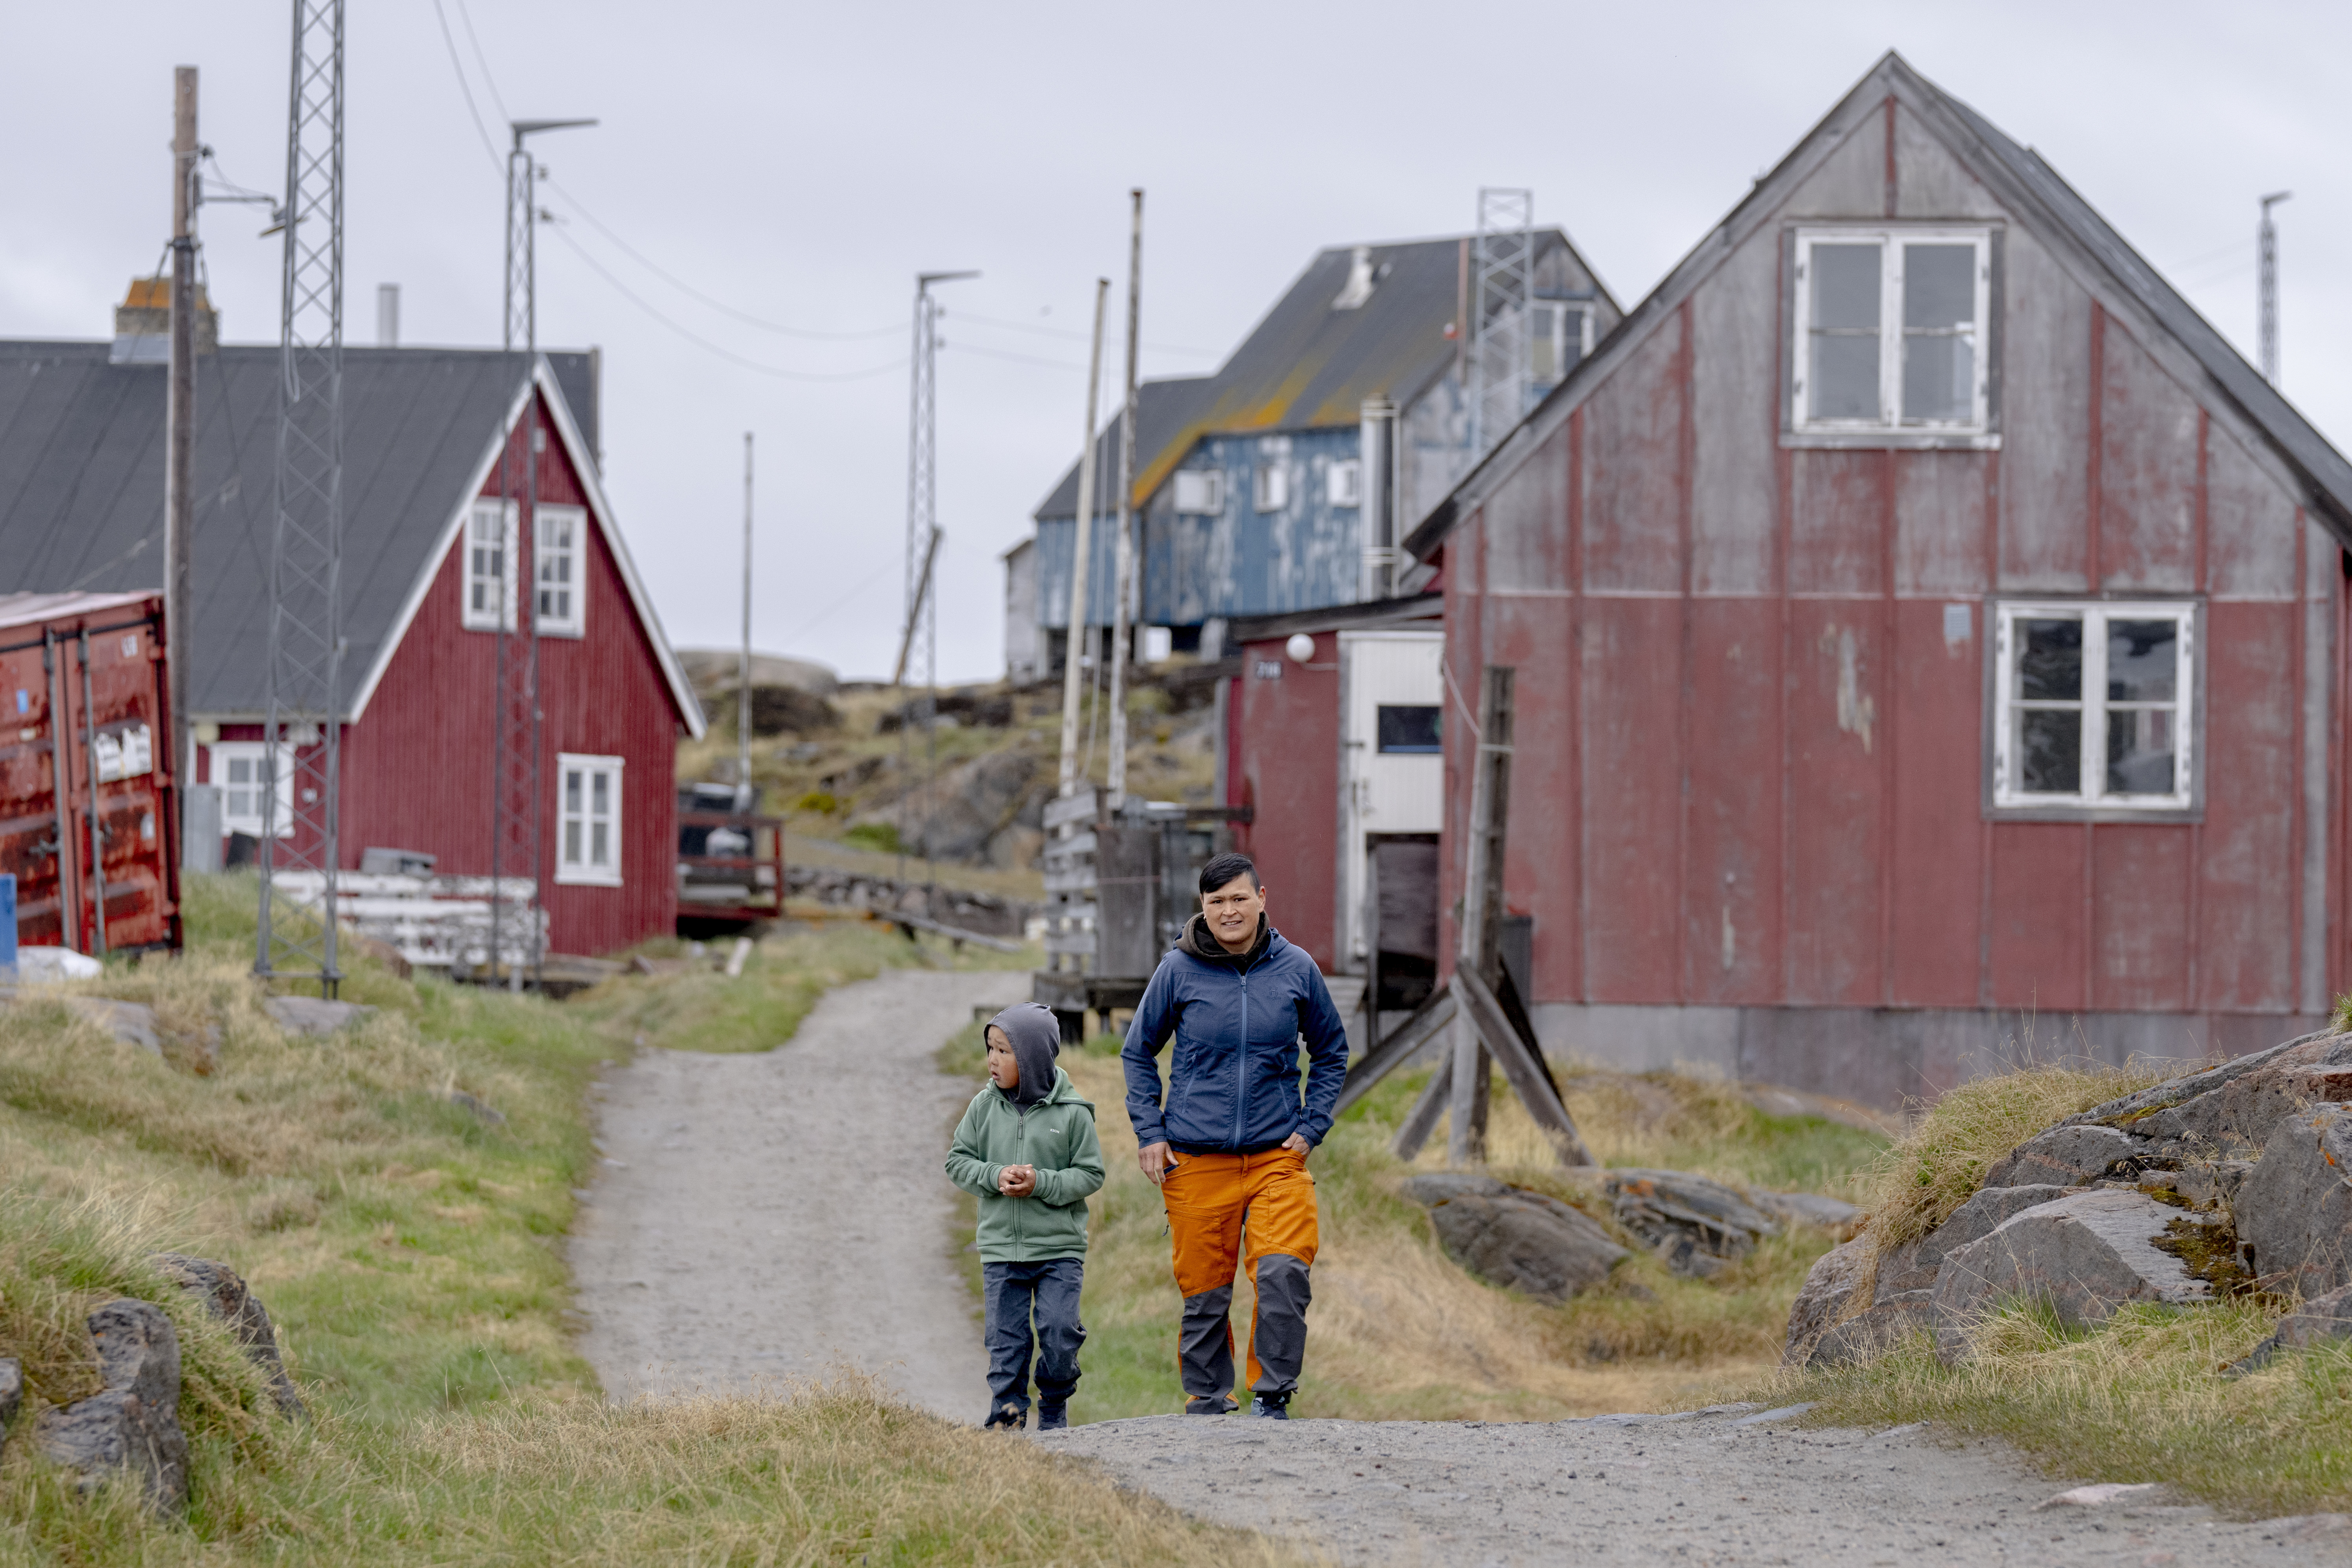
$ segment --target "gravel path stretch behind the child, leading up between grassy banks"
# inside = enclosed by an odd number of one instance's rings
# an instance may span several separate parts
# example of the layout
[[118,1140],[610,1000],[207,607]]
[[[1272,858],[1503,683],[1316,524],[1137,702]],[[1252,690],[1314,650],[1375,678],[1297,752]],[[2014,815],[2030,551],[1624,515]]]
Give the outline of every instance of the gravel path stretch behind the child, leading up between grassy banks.
[[985,1361],[938,1168],[974,1084],[931,1053],[974,1006],[1025,994],[1025,973],[896,969],[828,992],[776,1051],[640,1051],[609,1072],[604,1166],[572,1234],[604,1392],[854,1366],[974,1420]]

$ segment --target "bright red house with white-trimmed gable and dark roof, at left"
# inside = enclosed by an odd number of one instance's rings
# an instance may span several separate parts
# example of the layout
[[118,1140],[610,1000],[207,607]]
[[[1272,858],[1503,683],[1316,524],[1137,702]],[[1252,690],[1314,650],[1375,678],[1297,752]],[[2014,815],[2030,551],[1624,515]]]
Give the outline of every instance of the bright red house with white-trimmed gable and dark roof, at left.
[[[487,875],[492,679],[508,583],[501,451],[534,451],[541,898],[557,952],[673,931],[673,752],[701,733],[597,477],[593,355],[343,350],[341,860]],[[188,710],[223,830],[261,820],[275,348],[198,357]],[[165,374],[106,343],[0,343],[0,592],[162,571]],[[517,487],[520,489],[520,487]],[[282,820],[275,825],[282,830]],[[508,867],[513,870],[513,867]]]

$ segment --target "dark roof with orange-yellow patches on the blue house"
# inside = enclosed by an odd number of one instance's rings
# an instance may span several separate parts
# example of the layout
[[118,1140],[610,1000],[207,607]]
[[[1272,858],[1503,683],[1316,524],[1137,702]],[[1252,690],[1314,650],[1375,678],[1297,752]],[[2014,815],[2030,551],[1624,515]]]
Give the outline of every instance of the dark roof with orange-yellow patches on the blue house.
[[[1367,252],[1374,287],[1359,306],[1338,308],[1357,249]],[[1538,261],[1559,252],[1576,275],[1592,280],[1602,317],[1613,324],[1618,303],[1599,275],[1562,230],[1538,228]],[[1214,374],[1138,388],[1136,505],[1150,501],[1202,435],[1352,425],[1376,395],[1409,404],[1454,360],[1446,327],[1461,310],[1461,235],[1319,252]],[[1103,512],[1117,510],[1117,428],[1112,407],[1096,444]],[[1077,517],[1077,463],[1033,515]]]

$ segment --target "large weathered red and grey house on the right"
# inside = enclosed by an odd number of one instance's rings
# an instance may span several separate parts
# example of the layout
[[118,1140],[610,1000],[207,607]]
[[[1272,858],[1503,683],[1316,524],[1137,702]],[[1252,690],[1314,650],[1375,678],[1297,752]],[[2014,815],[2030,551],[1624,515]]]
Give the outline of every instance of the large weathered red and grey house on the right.
[[2352,465],[1889,54],[1409,541],[1449,691],[1517,670],[1545,1044],[1893,1103],[2317,1027],[2347,541]]

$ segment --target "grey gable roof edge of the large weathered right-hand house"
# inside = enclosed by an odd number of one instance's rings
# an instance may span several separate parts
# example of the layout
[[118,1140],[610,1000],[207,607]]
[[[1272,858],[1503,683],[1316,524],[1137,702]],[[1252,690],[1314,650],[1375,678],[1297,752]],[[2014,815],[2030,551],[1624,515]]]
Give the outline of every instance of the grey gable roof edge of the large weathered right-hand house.
[[2209,376],[2211,388],[2234,404],[2298,475],[2305,498],[2336,538],[2352,548],[2352,463],[2274,386],[2263,381],[2263,374],[2246,364],[2246,357],[2194,306],[2180,299],[2157,268],[2131,249],[2039,153],[2018,146],[1980,113],[1919,75],[1893,49],[1804,134],[1771,174],[1755,183],[1722,223],[1691,247],[1691,254],[1632,308],[1623,324],[1566,381],[1529,411],[1517,430],[1454,487],[1454,494],[1414,529],[1404,548],[1414,557],[1428,559],[1454,531],[1458,517],[1475,510],[1503,477],[1517,470],[1526,454],[1548,440],[1569,411],[1738,249],[1740,240],[1773,219],[1795,186],[1811,176],[1820,160],[1844,141],[1856,118],[1877,113],[1877,106],[1889,96],[1917,113],[1985,181],[2002,207],[2030,226],[2063,261],[2129,299],[2157,329],[2171,336]]

